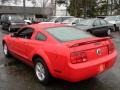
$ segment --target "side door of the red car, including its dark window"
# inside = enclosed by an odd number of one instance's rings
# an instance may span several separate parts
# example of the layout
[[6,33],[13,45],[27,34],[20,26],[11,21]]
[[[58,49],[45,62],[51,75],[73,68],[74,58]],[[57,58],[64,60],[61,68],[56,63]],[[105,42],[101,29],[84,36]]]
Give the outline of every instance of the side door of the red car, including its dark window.
[[18,32],[16,37],[13,37],[11,40],[12,46],[11,50],[18,56],[28,59],[26,54],[28,43],[31,41],[33,29],[23,28]]

